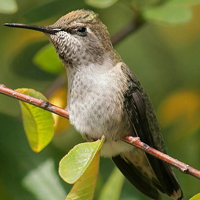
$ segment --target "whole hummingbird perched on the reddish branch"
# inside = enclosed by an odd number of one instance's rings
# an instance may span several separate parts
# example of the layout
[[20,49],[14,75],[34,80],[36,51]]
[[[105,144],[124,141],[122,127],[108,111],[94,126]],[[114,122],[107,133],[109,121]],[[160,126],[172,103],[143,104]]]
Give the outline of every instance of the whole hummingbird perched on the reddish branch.
[[101,155],[110,157],[140,192],[160,200],[175,200],[183,192],[172,168],[125,143],[139,137],[166,152],[152,104],[136,75],[114,50],[107,27],[90,10],[72,11],[53,25],[6,23],[5,26],[43,32],[62,60],[68,79],[69,120],[87,141],[105,136]]

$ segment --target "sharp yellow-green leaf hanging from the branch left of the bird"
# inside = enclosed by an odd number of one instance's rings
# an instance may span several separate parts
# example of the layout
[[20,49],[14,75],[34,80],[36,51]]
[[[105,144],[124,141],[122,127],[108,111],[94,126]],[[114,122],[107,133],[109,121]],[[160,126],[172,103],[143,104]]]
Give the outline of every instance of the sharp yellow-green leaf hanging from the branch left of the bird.
[[[40,93],[33,89],[20,88],[16,90],[47,101]],[[20,101],[23,125],[30,147],[35,152],[40,152],[53,138],[54,120],[52,113]]]

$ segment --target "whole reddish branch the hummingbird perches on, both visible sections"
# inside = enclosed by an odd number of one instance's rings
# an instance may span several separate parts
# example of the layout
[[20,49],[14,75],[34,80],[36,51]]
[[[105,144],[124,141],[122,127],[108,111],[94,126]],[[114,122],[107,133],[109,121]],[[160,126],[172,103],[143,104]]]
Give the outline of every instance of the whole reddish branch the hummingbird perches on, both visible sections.
[[[57,115],[60,115],[64,118],[69,119],[69,114],[68,114],[67,110],[57,107],[57,106],[49,103],[48,101],[44,101],[42,99],[37,99],[37,98],[31,97],[29,95],[22,94],[20,92],[16,92],[15,90],[10,89],[3,84],[0,84],[0,93],[7,95],[9,97],[18,99],[20,101],[24,101],[26,103],[35,105],[44,110],[53,112]],[[141,142],[138,137],[127,136],[123,139],[123,141],[128,144],[131,144],[133,146],[136,146],[137,148],[140,148],[141,150],[145,151],[146,153],[149,153],[150,155],[152,155],[160,160],[167,162],[168,164],[179,169],[181,172],[183,172],[185,174],[189,174],[191,176],[194,176],[194,177],[200,179],[200,171],[199,170],[197,170],[193,167],[190,167],[189,165],[187,165],[181,161],[178,161],[177,159],[174,159],[174,158],[168,156],[167,154],[164,154],[164,153],[150,147],[149,145]]]

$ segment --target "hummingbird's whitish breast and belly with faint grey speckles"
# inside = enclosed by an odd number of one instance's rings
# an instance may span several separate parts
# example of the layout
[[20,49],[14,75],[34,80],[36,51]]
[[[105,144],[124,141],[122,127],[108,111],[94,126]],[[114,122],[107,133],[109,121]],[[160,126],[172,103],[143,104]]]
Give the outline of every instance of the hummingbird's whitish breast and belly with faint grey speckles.
[[81,134],[94,139],[104,134],[110,141],[127,135],[120,65],[109,70],[93,65],[67,68],[70,122]]

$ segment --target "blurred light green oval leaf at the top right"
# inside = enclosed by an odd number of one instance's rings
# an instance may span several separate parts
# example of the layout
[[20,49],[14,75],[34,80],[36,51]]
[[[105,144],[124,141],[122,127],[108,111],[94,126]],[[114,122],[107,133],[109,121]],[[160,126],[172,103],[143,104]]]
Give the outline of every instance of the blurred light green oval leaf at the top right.
[[142,15],[146,20],[153,22],[182,24],[191,20],[192,11],[184,5],[164,4],[146,9]]

